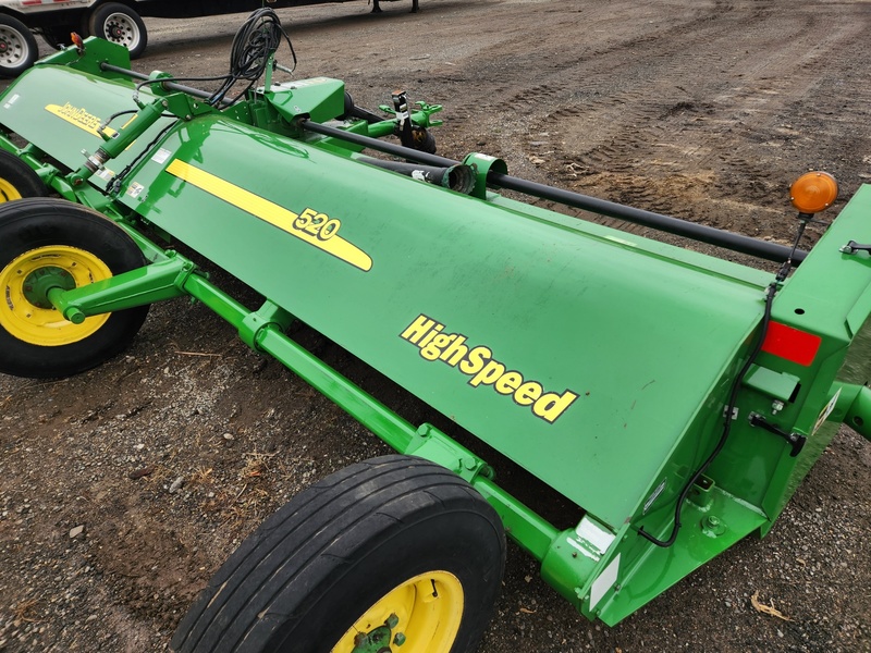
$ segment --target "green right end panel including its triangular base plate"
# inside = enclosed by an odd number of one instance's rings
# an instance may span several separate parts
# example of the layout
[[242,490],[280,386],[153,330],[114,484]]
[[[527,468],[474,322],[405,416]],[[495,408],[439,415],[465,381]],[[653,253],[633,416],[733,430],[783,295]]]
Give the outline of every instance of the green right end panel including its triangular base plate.
[[[871,242],[871,186],[842,211],[774,303],[773,320],[818,338],[815,354],[790,359],[788,350],[768,350],[759,357],[745,379],[733,434],[707,472],[707,488],[694,488],[684,504],[675,544],[660,549],[633,535],[621,542],[600,568],[612,569],[613,580],[600,572],[593,587],[601,578],[609,587],[594,605],[585,596],[577,605],[581,612],[613,625],[745,535],[770,530],[845,417],[844,406],[835,408],[835,379],[861,384],[871,378],[871,257],[842,252],[849,241]],[[790,455],[785,440],[751,427],[750,412],[807,436],[800,454]],[[666,525],[654,531],[660,538],[670,532],[668,509],[673,504],[657,504],[646,517]]]

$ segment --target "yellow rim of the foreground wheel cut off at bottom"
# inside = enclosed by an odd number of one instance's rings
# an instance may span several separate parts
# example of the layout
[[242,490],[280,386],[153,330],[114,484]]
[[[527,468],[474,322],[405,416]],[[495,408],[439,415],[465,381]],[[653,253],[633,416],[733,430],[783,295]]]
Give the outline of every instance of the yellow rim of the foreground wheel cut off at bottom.
[[366,611],[332,653],[352,653],[363,638],[388,623],[395,624],[387,644],[391,651],[449,653],[463,620],[463,584],[453,574],[415,576]]

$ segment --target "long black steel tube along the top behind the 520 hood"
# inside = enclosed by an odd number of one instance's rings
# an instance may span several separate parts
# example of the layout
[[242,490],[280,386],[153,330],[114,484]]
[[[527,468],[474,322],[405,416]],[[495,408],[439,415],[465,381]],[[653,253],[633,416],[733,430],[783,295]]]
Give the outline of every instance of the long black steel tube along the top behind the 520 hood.
[[[385,143],[378,138],[370,138],[369,136],[361,136],[359,134],[345,132],[344,130],[312,123],[308,120],[300,121],[299,124],[309,132],[341,138],[348,143],[361,145],[373,150],[393,155],[394,157],[413,159],[428,165],[456,165],[459,163],[459,161],[454,161],[453,159],[439,157],[438,155],[428,155],[401,145]],[[529,182],[499,172],[491,171],[487,177],[487,182],[499,188],[516,190],[541,199],[550,199],[568,207],[591,211],[609,218],[617,218],[635,224],[641,224],[676,236],[685,236],[694,241],[708,243],[709,245],[715,245],[740,254],[755,256],[766,261],[783,262],[789,257],[789,252],[792,251],[792,248],[785,245],[758,241],[750,236],[743,236],[721,229],[714,229],[713,226],[696,224],[695,222],[673,218],[671,215],[663,215],[662,213],[654,213],[653,211],[627,207],[613,201],[590,197],[589,195],[581,195],[580,193],[545,186],[544,184]],[[795,255],[793,255],[793,263],[798,266],[805,260],[807,255],[808,252],[803,249],[797,249]]]

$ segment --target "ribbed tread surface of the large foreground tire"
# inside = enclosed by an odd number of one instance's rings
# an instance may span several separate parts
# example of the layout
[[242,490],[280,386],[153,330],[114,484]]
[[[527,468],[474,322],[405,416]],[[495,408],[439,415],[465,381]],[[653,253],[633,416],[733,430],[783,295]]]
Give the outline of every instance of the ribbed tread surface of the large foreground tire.
[[[367,492],[375,484],[377,490]],[[184,618],[173,646],[185,652],[248,650],[246,638],[257,616],[290,583],[322,576],[324,565],[353,565],[367,542],[413,525],[424,496],[437,512],[471,502],[476,512],[499,521],[464,480],[427,460],[394,455],[353,465],[304,490],[243,542]],[[355,542],[345,541],[352,528]],[[309,537],[300,537],[304,532]],[[504,565],[504,535],[502,542]],[[310,603],[319,596],[305,599]],[[282,608],[293,614],[298,603]]]

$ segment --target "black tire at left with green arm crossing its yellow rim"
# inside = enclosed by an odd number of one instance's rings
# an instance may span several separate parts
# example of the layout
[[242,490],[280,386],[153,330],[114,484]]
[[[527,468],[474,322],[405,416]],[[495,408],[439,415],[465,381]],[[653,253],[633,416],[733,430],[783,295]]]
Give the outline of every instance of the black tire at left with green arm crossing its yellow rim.
[[[89,252],[113,275],[145,264],[142,251],[124,230],[96,211],[52,198],[0,205],[0,278],[22,255],[51,246]],[[0,296],[8,296],[7,288],[0,287]],[[148,306],[115,311],[84,340],[52,346],[20,340],[0,319],[0,372],[32,379],[83,372],[126,349],[147,315]]]

